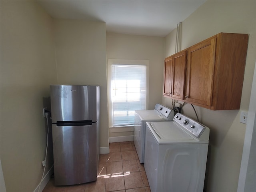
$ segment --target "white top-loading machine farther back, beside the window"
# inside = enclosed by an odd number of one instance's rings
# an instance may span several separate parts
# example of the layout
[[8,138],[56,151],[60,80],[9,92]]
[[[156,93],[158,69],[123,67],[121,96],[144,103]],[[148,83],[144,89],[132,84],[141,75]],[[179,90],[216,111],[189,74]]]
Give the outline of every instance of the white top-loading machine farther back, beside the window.
[[148,121],[172,121],[174,111],[161,104],[156,104],[153,110],[136,110],[134,122],[134,145],[140,160],[144,163],[145,130]]

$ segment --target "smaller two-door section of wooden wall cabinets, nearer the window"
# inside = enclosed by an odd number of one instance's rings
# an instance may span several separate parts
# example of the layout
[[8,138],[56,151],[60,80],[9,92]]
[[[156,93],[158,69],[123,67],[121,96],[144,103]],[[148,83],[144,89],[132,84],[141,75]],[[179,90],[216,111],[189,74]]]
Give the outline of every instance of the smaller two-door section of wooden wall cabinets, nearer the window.
[[186,56],[183,50],[164,60],[164,96],[184,100]]

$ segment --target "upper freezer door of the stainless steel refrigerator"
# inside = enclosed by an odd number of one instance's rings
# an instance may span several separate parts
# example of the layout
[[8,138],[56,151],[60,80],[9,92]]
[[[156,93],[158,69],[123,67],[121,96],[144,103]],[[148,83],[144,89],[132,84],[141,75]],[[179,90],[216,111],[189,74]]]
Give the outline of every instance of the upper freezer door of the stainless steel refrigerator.
[[50,85],[52,123],[92,120],[99,113],[99,86]]

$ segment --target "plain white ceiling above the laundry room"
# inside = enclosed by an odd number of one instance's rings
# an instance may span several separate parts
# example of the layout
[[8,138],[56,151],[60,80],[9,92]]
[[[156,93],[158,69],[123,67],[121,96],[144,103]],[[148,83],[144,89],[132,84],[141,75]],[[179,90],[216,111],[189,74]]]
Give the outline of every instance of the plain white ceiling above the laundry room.
[[205,0],[40,0],[53,18],[106,22],[107,32],[164,37]]

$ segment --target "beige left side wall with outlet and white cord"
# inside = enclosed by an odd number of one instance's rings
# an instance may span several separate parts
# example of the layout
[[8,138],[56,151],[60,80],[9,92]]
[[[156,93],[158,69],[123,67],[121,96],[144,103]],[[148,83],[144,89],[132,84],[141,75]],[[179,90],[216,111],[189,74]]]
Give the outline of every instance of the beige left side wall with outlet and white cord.
[[[53,22],[35,1],[0,3],[2,170],[6,191],[32,192],[43,173],[44,98],[57,83]],[[50,146],[48,157],[46,173],[53,165]]]

